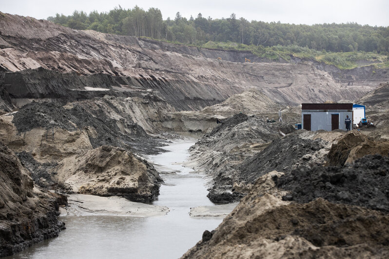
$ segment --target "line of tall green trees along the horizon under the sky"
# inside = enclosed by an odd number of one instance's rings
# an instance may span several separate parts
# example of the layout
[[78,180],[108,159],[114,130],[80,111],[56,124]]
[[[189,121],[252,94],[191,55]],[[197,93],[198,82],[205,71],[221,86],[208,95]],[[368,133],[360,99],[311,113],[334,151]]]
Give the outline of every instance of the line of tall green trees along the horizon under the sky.
[[92,11],[88,15],[74,11],[71,16],[56,14],[47,19],[78,30],[151,37],[197,46],[216,41],[256,47],[296,45],[318,51],[366,51],[389,55],[389,27],[357,23],[304,25],[248,21],[242,17],[237,19],[235,14],[212,19],[204,18],[201,13],[196,18],[186,19],[179,12],[174,19],[163,20],[158,8],[145,11],[138,6],[123,9],[120,5],[109,12]]

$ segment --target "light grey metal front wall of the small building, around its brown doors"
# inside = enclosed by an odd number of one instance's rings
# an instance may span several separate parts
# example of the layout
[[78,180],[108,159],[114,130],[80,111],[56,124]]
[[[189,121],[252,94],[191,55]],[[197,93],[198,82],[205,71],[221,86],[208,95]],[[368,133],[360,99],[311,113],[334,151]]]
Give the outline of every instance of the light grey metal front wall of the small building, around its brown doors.
[[[319,130],[319,129],[331,131],[332,130],[331,114],[339,114],[339,129],[346,130],[345,119],[347,115],[349,115],[349,118],[352,119],[352,111],[347,111],[347,110],[340,110],[340,111],[302,110],[301,112],[302,129],[304,129],[304,120],[303,120],[304,114],[311,114],[312,131]],[[352,129],[352,125],[350,126],[350,129]]]

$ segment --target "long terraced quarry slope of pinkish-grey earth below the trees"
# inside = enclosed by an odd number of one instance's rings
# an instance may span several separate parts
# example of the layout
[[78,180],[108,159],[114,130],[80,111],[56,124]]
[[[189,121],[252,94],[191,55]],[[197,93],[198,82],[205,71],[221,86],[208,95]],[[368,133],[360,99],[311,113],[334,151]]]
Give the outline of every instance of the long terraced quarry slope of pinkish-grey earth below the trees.
[[342,85],[313,62],[242,63],[246,52],[78,31],[8,14],[0,15],[0,48],[0,96],[8,106],[9,100],[64,104],[154,90],[177,110],[196,110],[251,88],[291,105],[352,100],[373,89]]

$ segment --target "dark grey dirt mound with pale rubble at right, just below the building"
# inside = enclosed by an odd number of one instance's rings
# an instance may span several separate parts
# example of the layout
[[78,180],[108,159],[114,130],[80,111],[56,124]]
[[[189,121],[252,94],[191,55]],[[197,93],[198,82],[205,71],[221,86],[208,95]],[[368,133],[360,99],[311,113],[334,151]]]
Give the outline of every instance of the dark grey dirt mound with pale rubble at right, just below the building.
[[[240,177],[254,183],[259,176],[270,171],[287,172],[297,166],[323,165],[326,149],[331,143],[314,136],[320,132],[298,130],[278,138],[260,153],[246,159],[239,166]],[[311,135],[307,138],[305,135]]]

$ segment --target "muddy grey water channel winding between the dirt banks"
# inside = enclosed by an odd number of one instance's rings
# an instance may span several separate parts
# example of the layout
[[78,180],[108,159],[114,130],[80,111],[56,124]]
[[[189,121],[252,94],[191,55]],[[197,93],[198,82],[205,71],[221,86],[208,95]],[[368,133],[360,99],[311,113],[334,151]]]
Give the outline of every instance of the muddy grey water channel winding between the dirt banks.
[[148,158],[163,173],[165,184],[161,185],[158,200],[153,204],[169,207],[165,216],[60,217],[66,223],[66,230],[58,238],[45,240],[12,258],[181,257],[201,240],[204,230],[212,230],[222,221],[189,216],[191,207],[213,205],[206,197],[208,192],[202,176],[181,164],[187,160],[188,148],[193,144],[192,140],[181,140],[164,147],[169,152]]

